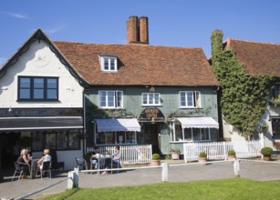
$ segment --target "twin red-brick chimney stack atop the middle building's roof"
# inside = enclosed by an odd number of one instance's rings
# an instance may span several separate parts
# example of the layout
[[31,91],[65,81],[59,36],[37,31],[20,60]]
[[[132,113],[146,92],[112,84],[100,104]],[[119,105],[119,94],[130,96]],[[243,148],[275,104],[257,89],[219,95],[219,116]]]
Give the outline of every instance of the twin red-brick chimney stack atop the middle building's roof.
[[148,17],[131,15],[127,22],[128,44],[149,45]]

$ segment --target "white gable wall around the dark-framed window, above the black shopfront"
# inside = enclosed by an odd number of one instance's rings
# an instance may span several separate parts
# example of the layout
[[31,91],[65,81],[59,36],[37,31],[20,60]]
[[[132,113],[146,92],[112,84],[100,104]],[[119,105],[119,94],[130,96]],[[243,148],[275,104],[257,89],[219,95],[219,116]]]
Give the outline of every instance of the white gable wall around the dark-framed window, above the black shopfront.
[[[39,60],[43,59],[42,62]],[[58,78],[58,102],[17,102],[17,77],[55,76]],[[9,107],[82,107],[83,87],[60,63],[46,43],[41,41],[30,45],[15,65],[8,68],[0,78],[0,108]]]

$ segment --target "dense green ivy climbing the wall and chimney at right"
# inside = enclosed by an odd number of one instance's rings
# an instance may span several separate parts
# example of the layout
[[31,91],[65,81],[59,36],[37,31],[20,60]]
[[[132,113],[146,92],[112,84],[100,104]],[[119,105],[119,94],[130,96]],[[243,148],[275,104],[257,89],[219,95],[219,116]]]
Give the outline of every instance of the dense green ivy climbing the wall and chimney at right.
[[233,50],[223,50],[223,32],[212,33],[213,71],[222,86],[221,107],[225,121],[248,139],[264,113],[273,78],[244,71]]

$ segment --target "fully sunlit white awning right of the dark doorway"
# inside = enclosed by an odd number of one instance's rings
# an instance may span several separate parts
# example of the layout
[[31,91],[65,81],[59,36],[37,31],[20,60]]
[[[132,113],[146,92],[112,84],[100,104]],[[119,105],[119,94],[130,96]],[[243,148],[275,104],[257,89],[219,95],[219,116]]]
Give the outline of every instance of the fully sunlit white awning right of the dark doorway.
[[181,128],[217,128],[219,129],[219,124],[209,116],[202,117],[178,117],[179,122],[181,122]]

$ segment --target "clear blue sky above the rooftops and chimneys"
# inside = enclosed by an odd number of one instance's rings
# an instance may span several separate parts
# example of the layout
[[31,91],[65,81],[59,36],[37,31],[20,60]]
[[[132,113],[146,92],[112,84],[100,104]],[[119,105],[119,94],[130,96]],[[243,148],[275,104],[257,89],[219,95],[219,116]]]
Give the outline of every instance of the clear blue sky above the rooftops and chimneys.
[[53,41],[126,44],[130,15],[149,17],[150,45],[202,47],[211,34],[280,44],[277,0],[0,0],[0,65],[37,28]]

